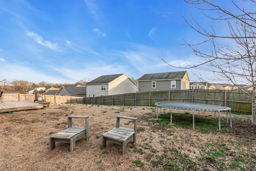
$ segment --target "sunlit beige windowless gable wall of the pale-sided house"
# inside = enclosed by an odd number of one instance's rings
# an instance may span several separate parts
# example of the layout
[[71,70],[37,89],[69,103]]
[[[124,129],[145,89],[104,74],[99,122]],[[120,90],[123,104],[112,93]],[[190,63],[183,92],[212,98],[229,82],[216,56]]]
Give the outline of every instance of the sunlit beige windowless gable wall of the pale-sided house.
[[136,85],[125,75],[120,76],[109,84],[109,95],[136,93]]

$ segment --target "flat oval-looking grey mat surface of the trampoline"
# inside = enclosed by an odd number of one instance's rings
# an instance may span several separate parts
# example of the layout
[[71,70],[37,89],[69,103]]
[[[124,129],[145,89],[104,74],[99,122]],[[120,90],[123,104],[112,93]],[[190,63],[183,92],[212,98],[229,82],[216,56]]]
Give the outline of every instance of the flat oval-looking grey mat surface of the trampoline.
[[204,110],[204,111],[221,111],[230,110],[230,107],[218,106],[218,105],[206,105],[201,103],[190,103],[190,102],[180,102],[180,101],[163,101],[155,103],[155,105],[160,107],[167,107],[172,109],[184,109],[184,110]]

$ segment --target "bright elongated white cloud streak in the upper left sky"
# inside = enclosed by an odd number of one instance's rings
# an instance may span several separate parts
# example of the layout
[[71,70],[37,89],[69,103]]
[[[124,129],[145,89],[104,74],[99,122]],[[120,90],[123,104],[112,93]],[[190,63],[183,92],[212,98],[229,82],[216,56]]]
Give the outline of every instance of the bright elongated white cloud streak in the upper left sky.
[[27,36],[33,38],[38,44],[45,46],[47,48],[50,48],[52,50],[56,50],[56,51],[61,51],[60,47],[58,46],[57,43],[52,43],[48,40],[44,40],[42,38],[42,36],[39,36],[38,34],[34,33],[34,32],[27,32]]

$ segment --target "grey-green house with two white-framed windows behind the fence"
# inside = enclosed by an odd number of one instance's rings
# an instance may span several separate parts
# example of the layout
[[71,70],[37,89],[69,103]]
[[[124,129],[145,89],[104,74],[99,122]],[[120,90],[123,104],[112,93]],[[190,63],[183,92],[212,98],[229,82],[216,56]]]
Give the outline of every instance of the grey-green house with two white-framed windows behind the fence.
[[138,79],[138,92],[189,89],[188,72],[144,74]]

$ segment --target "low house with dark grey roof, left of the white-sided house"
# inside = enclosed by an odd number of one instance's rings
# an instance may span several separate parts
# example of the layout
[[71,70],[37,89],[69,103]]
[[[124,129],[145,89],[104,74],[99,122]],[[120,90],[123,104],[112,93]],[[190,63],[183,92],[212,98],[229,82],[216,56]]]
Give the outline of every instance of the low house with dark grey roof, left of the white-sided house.
[[86,87],[62,86],[56,95],[86,97]]

